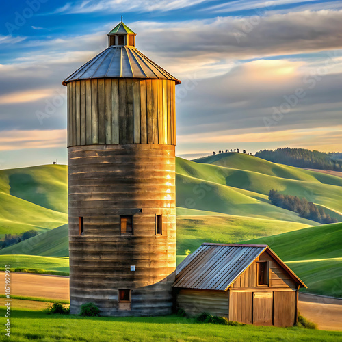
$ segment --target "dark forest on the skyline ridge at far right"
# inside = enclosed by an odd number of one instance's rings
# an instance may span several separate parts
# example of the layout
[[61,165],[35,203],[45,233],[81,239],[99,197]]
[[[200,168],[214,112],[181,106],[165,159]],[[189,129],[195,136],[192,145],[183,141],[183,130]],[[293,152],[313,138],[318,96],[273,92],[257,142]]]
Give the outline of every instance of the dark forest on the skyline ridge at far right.
[[324,153],[304,148],[276,148],[276,150],[259,150],[255,156],[297,168],[342,171],[341,153]]

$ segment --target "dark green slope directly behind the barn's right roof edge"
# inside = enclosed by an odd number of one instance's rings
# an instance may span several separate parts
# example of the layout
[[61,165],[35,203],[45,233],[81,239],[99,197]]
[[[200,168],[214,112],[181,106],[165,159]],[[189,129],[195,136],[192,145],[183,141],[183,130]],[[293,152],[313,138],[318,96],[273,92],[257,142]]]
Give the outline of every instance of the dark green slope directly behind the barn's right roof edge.
[[341,223],[245,242],[269,245],[302,278],[308,286],[308,292],[342,297]]

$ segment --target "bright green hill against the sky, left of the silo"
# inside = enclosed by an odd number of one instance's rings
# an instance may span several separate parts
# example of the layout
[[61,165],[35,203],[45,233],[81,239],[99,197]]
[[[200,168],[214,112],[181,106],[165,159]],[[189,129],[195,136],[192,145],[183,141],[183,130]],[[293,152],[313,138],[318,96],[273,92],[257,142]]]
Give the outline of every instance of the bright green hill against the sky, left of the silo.
[[68,222],[65,165],[0,170],[0,236]]

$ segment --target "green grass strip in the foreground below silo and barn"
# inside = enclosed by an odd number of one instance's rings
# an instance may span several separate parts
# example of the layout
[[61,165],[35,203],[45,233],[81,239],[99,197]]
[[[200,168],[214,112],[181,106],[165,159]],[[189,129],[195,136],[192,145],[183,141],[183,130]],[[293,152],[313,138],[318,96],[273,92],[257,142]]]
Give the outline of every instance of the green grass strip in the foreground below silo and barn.
[[[5,310],[0,309],[4,317]],[[175,315],[164,317],[78,317],[13,310],[12,340],[52,341],[338,341],[341,332],[262,326],[199,324]]]

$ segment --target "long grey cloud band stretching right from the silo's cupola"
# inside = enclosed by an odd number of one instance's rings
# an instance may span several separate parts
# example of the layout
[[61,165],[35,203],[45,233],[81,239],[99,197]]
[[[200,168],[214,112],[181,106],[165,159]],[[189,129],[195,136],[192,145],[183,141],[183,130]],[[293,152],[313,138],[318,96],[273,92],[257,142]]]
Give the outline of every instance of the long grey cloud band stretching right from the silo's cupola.
[[[249,23],[231,16],[213,20],[136,23],[145,49],[168,54],[170,60],[189,56],[257,58],[342,48],[342,10],[272,14]],[[184,34],[186,32],[187,34]],[[153,40],[150,37],[153,36]],[[181,64],[181,60],[176,60]]]

